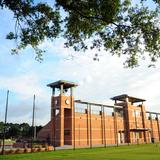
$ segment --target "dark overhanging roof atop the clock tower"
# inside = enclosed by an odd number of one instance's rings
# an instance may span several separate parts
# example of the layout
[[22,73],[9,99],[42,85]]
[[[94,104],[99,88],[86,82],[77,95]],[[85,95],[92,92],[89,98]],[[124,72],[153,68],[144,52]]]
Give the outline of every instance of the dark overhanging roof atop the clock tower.
[[76,83],[65,81],[65,80],[59,80],[59,81],[50,83],[47,86],[51,88],[60,88],[61,85],[63,85],[64,89],[78,86]]

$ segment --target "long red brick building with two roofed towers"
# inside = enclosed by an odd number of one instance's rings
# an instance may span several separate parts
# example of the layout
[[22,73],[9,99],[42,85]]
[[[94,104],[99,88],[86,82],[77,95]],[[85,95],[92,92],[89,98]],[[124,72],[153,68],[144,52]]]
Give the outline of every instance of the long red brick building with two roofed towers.
[[160,114],[146,111],[144,99],[124,94],[111,98],[114,105],[109,106],[74,100],[77,85],[72,82],[60,80],[48,86],[51,120],[38,133],[39,140],[90,147],[160,141]]

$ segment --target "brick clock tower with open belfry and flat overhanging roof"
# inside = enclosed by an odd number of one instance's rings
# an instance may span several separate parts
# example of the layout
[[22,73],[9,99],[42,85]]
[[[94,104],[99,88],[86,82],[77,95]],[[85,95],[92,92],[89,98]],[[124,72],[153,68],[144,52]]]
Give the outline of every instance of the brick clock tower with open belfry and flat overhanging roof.
[[73,144],[74,96],[77,84],[60,80],[47,85],[52,88],[51,96],[51,142],[54,146]]

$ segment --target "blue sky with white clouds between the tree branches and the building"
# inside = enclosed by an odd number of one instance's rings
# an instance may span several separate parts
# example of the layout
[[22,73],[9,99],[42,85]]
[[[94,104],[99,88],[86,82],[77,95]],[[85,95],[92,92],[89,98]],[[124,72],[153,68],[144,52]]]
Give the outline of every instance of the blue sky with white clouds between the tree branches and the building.
[[[160,64],[147,68],[143,61],[135,69],[123,68],[123,57],[102,51],[100,61],[93,61],[97,50],[75,53],[63,47],[64,39],[45,41],[44,60],[34,60],[34,51],[27,48],[20,55],[11,55],[15,43],[5,39],[14,28],[12,14],[0,10],[0,121],[4,120],[6,91],[10,90],[8,121],[31,123],[32,100],[36,94],[36,123],[50,119],[50,88],[46,85],[59,79],[79,84],[75,98],[113,104],[111,97],[129,94],[147,100],[147,110],[160,112]],[[69,55],[75,55],[71,60]]]

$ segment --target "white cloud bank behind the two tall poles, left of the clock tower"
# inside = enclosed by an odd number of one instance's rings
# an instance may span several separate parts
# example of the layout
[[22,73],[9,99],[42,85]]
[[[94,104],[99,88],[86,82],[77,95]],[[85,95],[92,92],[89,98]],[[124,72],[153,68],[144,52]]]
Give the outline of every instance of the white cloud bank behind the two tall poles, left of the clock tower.
[[[40,85],[40,78],[35,73],[28,73],[23,75],[15,75],[15,77],[0,77],[0,86],[3,91],[9,89],[9,122],[28,122],[31,124],[33,95],[36,95],[36,123],[45,124],[50,117],[50,94],[46,90],[46,86]],[[1,92],[2,93],[2,92]],[[5,111],[6,95],[1,96],[1,106]],[[2,112],[2,110],[1,110]],[[4,116],[0,118],[3,120]]]

